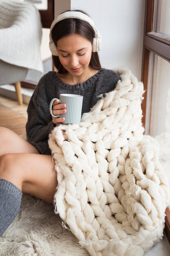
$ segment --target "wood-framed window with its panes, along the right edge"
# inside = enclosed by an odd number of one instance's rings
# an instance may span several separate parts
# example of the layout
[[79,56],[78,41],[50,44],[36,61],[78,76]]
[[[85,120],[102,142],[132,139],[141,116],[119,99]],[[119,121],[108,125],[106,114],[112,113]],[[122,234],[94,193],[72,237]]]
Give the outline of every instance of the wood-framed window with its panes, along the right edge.
[[[170,153],[170,1],[146,0],[142,77],[142,103],[146,134],[161,141]],[[164,141],[164,144],[163,144]],[[167,148],[165,148],[167,146]],[[163,154],[166,157],[167,154]],[[165,165],[170,165],[165,159]],[[168,173],[170,180],[170,173]],[[166,235],[170,243],[170,207],[166,209]]]

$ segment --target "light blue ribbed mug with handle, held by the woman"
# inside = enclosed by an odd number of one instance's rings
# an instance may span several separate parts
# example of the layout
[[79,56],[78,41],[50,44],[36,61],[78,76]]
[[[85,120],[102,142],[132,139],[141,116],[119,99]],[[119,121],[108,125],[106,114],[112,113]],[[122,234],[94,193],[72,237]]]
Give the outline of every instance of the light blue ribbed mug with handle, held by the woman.
[[59,103],[66,104],[66,113],[60,115],[53,115],[52,106],[53,102],[57,98],[54,98],[50,102],[49,110],[52,117],[64,117],[64,124],[79,124],[82,117],[82,103],[83,96],[77,94],[60,94]]

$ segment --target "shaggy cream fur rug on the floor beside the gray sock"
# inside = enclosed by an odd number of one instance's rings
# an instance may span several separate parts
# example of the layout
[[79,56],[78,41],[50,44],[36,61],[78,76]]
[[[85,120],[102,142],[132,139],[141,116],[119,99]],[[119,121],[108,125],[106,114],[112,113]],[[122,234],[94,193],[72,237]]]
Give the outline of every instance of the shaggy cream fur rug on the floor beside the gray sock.
[[89,256],[54,207],[23,194],[21,209],[0,237],[0,256]]

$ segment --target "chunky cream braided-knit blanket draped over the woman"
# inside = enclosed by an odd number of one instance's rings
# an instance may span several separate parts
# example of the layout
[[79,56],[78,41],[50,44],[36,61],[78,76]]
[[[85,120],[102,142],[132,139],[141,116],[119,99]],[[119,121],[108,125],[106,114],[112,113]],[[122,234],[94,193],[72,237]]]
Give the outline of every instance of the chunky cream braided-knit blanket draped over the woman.
[[80,124],[51,132],[55,212],[91,256],[141,256],[163,235],[169,184],[158,143],[143,135],[143,84],[114,71],[121,81]]

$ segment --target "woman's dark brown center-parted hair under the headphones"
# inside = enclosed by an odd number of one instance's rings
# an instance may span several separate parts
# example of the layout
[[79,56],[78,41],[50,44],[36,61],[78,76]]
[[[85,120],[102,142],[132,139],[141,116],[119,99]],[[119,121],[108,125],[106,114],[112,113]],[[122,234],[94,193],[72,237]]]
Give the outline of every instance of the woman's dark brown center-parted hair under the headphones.
[[[74,11],[81,11],[82,13],[88,15],[82,10],[74,10]],[[54,25],[51,31],[51,36],[56,46],[57,46],[57,41],[60,38],[64,36],[69,36],[72,34],[78,34],[80,36],[84,36],[86,39],[88,39],[92,43],[95,32],[88,22],[84,20],[79,20],[77,18],[66,18],[64,20],[61,20],[60,22],[57,22]],[[52,55],[52,58],[53,58],[53,64],[57,68],[58,72],[61,74],[66,73],[67,71],[60,63],[58,56]],[[91,67],[97,70],[101,69],[99,55],[97,52],[92,52],[90,65]]]

